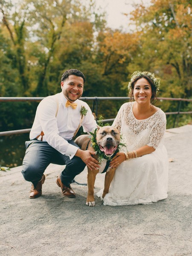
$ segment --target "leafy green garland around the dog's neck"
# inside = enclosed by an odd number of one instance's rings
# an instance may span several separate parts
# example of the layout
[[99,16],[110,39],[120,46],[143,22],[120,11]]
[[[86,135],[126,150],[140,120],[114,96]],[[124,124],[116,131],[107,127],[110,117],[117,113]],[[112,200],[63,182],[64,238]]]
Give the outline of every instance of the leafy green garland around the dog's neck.
[[[108,123],[106,123],[105,125],[103,125],[102,120],[103,120],[102,115],[99,115],[99,118],[98,118],[98,120],[97,120],[97,123],[98,123],[98,125],[99,125],[100,127],[109,125]],[[98,129],[98,128],[96,128],[93,132],[90,132],[90,134],[91,134],[90,140],[91,140],[91,144],[92,144],[92,147],[93,147],[94,151],[95,151],[96,154],[98,155],[98,161],[99,161],[99,163],[101,163],[103,159],[106,159],[106,160],[108,160],[108,161],[111,161],[112,156],[111,156],[111,157],[106,156],[105,153],[100,150],[99,145],[98,145],[97,142],[96,142],[96,131],[97,131],[97,129]],[[120,139],[122,139],[122,136],[121,136],[121,135],[120,135]],[[124,143],[119,143],[119,146],[117,147],[117,149],[116,149],[115,152],[119,152],[119,151],[121,150],[122,146],[126,147],[126,145],[125,145]],[[114,152],[114,153],[115,153],[115,152]]]

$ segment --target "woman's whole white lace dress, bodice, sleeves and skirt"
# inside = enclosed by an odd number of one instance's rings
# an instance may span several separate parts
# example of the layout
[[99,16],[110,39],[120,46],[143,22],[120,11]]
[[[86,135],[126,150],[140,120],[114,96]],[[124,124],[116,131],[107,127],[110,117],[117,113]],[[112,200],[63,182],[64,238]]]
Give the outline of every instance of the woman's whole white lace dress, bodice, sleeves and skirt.
[[[149,118],[137,120],[133,104],[122,105],[113,126],[123,135],[128,151],[144,145],[154,147],[155,151],[119,165],[103,199],[104,205],[150,204],[167,198],[168,156],[163,145],[166,115],[159,109]],[[97,195],[101,197],[102,190]]]

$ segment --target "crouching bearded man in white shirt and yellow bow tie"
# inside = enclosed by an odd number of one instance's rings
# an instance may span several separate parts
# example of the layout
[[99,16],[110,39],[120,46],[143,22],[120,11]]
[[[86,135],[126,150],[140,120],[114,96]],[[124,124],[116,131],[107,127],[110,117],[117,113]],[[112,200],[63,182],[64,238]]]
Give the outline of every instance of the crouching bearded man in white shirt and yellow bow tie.
[[76,69],[67,70],[61,77],[61,93],[44,98],[38,105],[35,120],[26,142],[22,174],[32,182],[29,198],[42,195],[44,171],[49,163],[66,165],[56,183],[64,196],[74,198],[70,182],[87,165],[99,168],[99,162],[91,155],[94,151],[81,150],[73,136],[82,125],[84,132],[93,131],[96,121],[87,105],[79,100],[83,93],[85,77]]

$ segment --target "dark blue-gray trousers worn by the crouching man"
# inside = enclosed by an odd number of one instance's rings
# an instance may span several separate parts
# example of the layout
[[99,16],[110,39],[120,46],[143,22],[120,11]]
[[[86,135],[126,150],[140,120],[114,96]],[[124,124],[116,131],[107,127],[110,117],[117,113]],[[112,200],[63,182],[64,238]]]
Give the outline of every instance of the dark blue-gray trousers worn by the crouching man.
[[[68,143],[79,148],[73,140],[69,140]],[[63,172],[61,172],[61,182],[65,186],[68,186],[74,177],[84,170],[85,163],[81,158],[74,156],[70,159],[55,148],[52,148],[47,142],[30,140],[26,141],[25,145],[26,152],[23,158],[23,169],[21,173],[24,179],[32,182],[34,186],[41,180],[49,163],[66,165]]]

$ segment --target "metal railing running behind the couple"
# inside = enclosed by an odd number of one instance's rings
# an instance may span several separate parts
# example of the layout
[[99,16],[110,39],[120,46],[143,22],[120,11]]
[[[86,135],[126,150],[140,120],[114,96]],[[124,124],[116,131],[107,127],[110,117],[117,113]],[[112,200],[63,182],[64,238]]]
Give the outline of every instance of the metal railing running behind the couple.
[[[0,102],[40,102],[42,99],[45,97],[0,97]],[[102,100],[128,100],[130,99],[129,97],[81,97],[81,100],[93,100],[93,105],[92,105],[92,112],[95,113],[97,116],[98,113],[98,105],[99,101]],[[177,116],[179,114],[192,114],[192,111],[180,111],[181,110],[181,102],[192,102],[192,99],[182,99],[182,98],[163,98],[160,97],[158,98],[160,101],[163,100],[170,100],[170,101],[177,101],[177,111],[175,112],[166,112],[166,115],[175,115],[175,120],[174,120],[174,125],[173,128],[175,127],[175,122],[177,119]],[[111,119],[104,119],[102,122],[112,122],[114,118]],[[0,136],[4,135],[11,135],[11,134],[22,134],[22,133],[29,133],[31,129],[22,129],[22,130],[14,130],[14,131],[2,131],[0,132]]]

